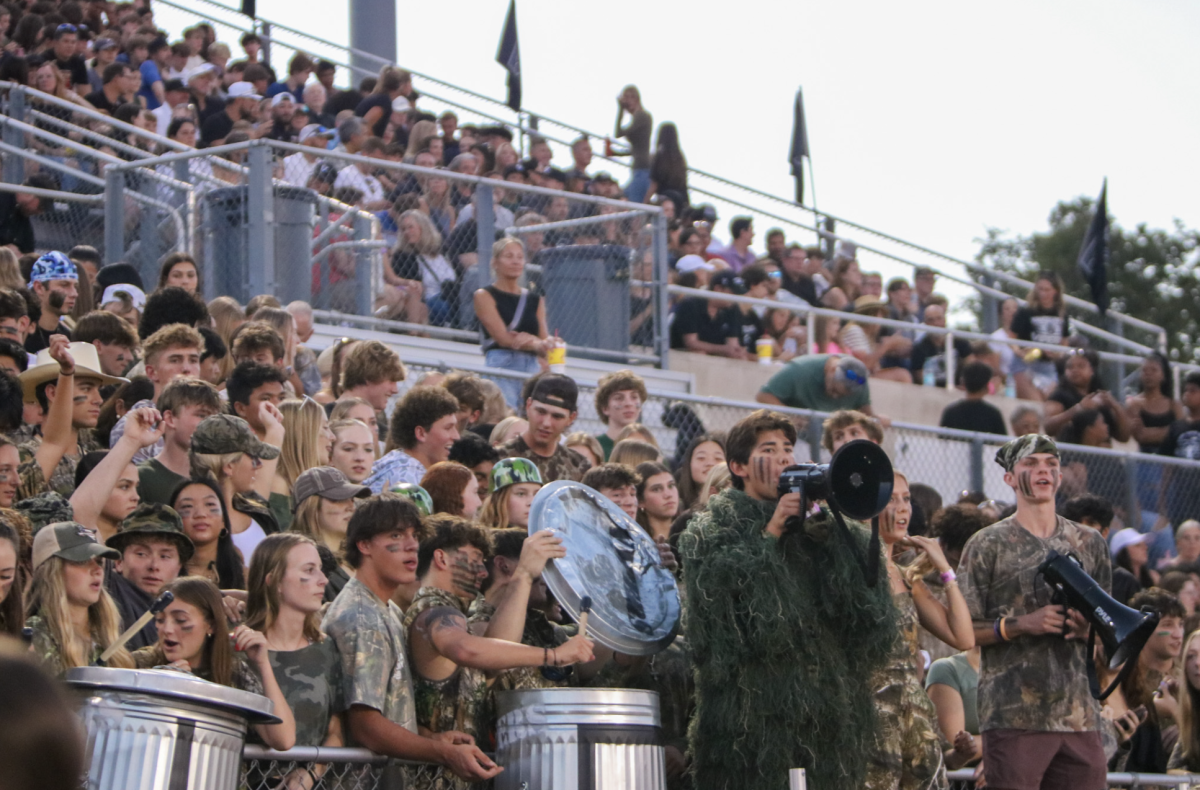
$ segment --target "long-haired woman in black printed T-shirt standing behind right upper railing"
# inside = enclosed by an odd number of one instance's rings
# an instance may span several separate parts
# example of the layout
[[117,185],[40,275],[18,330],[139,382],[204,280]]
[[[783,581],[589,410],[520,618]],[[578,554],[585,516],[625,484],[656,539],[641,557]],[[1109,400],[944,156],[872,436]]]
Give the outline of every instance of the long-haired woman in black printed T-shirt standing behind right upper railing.
[[[1032,340],[1051,346],[1066,346],[1070,336],[1070,319],[1063,301],[1062,277],[1052,271],[1038,273],[1025,307],[1013,317],[1013,333],[1018,340]],[[1043,390],[1052,387],[1057,371],[1055,357],[1040,349],[1020,349],[1013,358],[1013,379],[1016,396],[1024,400],[1045,400]]]

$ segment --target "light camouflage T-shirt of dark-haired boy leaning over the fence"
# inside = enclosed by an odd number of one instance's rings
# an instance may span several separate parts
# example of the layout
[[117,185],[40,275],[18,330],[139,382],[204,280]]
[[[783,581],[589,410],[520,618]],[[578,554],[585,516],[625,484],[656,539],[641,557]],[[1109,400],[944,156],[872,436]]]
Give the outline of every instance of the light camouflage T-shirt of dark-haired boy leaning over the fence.
[[416,732],[413,675],[400,606],[352,579],[325,612],[320,629],[342,657],[346,707],[362,705]]

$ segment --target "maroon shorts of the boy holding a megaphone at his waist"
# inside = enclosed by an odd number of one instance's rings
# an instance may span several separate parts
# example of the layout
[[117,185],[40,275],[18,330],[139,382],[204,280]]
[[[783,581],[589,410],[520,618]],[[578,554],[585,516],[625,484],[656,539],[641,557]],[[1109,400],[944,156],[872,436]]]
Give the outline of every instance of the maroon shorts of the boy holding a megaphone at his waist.
[[1099,732],[988,730],[983,770],[990,790],[1104,790]]

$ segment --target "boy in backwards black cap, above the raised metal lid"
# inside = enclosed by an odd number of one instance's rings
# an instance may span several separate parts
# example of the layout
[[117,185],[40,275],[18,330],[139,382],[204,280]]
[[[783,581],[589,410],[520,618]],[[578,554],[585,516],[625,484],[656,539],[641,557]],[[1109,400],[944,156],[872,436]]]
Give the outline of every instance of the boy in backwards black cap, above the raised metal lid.
[[538,378],[526,400],[529,427],[500,448],[500,451],[509,457],[533,461],[546,483],[582,480],[589,466],[587,460],[559,444],[559,438],[570,430],[578,415],[578,387],[566,376],[546,373]]

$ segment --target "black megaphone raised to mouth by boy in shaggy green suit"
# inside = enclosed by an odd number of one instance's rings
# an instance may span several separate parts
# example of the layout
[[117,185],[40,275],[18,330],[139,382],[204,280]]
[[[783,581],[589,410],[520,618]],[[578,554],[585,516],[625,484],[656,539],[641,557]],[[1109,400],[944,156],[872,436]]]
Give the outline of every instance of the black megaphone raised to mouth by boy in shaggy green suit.
[[799,463],[779,477],[779,495],[803,493],[809,502],[828,502],[851,519],[866,521],[892,499],[895,475],[888,454],[874,442],[841,445],[828,463]]

